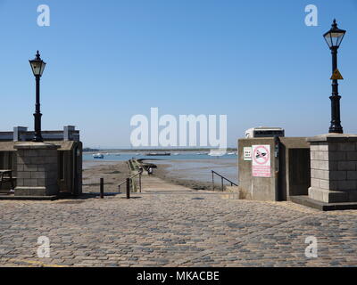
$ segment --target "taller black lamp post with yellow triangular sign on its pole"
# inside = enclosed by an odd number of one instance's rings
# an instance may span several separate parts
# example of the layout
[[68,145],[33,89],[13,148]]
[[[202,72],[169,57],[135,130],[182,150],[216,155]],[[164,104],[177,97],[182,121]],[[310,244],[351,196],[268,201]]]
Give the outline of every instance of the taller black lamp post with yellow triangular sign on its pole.
[[[332,28],[324,34],[328,47],[332,53],[332,73],[337,70],[337,50],[341,45],[342,40],[345,37],[346,31],[344,29],[337,28],[336,20],[332,24]],[[341,126],[340,116],[340,99],[338,95],[338,81],[332,79],[332,96],[331,99],[331,126],[329,127],[329,133],[344,134],[344,129]]]

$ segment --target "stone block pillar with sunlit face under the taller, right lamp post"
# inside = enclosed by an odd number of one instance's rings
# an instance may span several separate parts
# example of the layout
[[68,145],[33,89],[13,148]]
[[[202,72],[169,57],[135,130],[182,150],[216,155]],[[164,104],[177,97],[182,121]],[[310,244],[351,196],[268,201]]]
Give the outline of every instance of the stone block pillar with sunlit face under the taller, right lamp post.
[[309,198],[325,203],[357,202],[357,134],[323,134],[308,142]]

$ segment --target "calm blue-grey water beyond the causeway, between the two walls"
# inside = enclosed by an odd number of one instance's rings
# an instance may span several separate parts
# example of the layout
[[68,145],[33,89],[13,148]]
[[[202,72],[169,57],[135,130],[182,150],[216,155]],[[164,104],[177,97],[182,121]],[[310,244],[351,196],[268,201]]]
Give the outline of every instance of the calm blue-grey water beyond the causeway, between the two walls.
[[[86,161],[126,161],[132,158],[152,160],[154,164],[169,165],[170,172],[175,176],[195,181],[212,182],[212,170],[220,175],[224,175],[229,180],[237,182],[237,155],[224,155],[221,157],[212,157],[208,154],[202,154],[199,151],[181,151],[171,152],[170,156],[145,156],[145,153],[138,152],[116,152],[105,153],[104,159],[93,159],[92,154],[84,154],[83,160]],[[173,153],[179,153],[173,155]],[[198,154],[201,153],[201,154]],[[117,155],[116,155],[117,154]],[[215,176],[217,182],[220,181]]]

